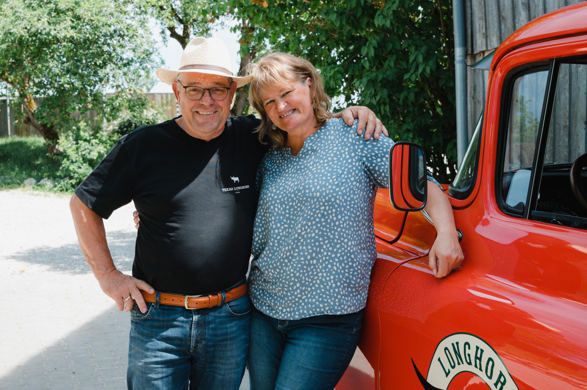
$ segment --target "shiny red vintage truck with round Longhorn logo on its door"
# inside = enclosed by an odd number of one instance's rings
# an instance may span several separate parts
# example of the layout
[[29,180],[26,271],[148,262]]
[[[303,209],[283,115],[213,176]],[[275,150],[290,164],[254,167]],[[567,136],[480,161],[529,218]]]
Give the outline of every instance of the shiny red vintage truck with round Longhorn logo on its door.
[[587,2],[485,63],[484,113],[446,186],[465,261],[436,279],[429,219],[377,194],[362,339],[339,390],[587,389]]

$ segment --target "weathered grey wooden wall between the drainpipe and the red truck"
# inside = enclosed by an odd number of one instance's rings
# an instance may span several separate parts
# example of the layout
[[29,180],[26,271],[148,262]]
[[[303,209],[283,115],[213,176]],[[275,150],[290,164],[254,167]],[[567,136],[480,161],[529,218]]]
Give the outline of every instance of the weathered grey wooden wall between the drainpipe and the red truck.
[[[466,0],[467,65],[491,53],[515,30],[532,19],[579,0]],[[468,69],[468,135],[483,111],[488,72]]]

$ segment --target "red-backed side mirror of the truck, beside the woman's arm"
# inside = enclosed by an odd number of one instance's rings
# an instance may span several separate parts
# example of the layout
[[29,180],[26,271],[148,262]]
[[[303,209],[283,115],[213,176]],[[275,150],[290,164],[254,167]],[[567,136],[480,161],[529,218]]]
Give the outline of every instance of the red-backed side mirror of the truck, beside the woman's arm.
[[426,154],[414,143],[398,142],[389,151],[389,198],[400,211],[419,211],[426,205]]

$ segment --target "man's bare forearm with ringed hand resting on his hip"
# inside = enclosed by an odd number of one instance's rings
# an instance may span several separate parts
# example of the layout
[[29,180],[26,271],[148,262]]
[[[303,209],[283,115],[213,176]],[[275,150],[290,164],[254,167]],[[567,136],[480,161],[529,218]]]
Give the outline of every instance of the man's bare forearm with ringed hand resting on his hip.
[[153,287],[143,280],[123,274],[116,269],[106,242],[103,219],[75,194],[69,201],[69,209],[72,212],[77,242],[79,242],[79,247],[82,249],[83,257],[85,257],[98,283],[100,283],[100,288],[104,291],[104,294],[116,302],[116,306],[120,311],[130,311],[133,307],[132,300],[124,301],[124,298],[130,296],[136,300],[140,310],[146,313],[147,305],[139,290],[153,293]]

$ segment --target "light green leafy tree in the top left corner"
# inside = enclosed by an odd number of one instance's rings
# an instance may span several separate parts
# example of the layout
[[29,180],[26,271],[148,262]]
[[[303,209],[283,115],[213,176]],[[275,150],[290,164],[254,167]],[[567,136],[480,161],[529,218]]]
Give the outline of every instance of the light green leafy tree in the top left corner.
[[124,0],[2,0],[0,20],[0,81],[52,154],[87,111],[111,120],[156,67],[147,19]]

